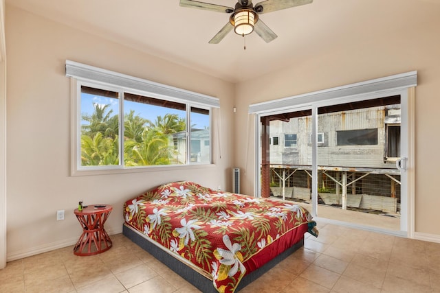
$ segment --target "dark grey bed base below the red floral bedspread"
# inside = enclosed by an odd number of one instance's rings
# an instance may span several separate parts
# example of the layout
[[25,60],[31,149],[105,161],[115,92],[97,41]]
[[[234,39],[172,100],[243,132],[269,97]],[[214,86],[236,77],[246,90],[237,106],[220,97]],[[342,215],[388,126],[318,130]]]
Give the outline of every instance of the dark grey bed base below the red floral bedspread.
[[[212,284],[212,280],[204,277],[203,275],[199,274],[199,272],[196,272],[195,270],[188,270],[188,266],[186,264],[182,263],[181,261],[177,260],[172,255],[166,253],[161,248],[155,246],[152,244],[149,240],[142,237],[142,235],[138,234],[137,232],[133,231],[131,228],[123,225],[122,233],[131,239],[135,244],[140,246],[142,249],[146,250],[148,253],[153,255],[157,260],[164,263],[168,268],[179,274],[180,277],[186,279],[189,283],[194,285],[197,289],[199,289],[203,293],[218,293],[218,291],[214,288],[214,285]],[[241,279],[239,285],[236,288],[236,292],[239,290],[245,288],[246,285],[249,285],[259,277],[261,277],[262,274],[276,266],[277,263],[294,253],[298,248],[301,248],[304,246],[304,237],[300,239],[299,242],[291,246],[290,248],[287,248],[285,252],[281,253],[271,261],[265,263],[264,266],[261,268],[254,270],[253,272],[250,272],[249,274],[246,274],[243,279]]]

